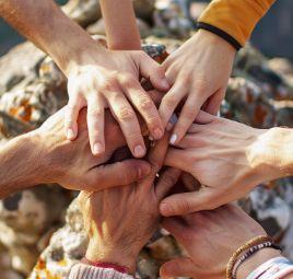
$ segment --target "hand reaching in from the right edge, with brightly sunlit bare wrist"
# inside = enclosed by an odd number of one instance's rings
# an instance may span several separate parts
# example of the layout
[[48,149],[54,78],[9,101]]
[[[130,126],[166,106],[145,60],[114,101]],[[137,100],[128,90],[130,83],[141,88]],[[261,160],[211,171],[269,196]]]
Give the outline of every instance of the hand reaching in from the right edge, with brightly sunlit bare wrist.
[[254,129],[204,112],[197,121],[177,144],[180,149],[168,150],[165,164],[190,173],[204,187],[167,197],[162,214],[214,209],[244,197],[260,183],[284,176],[284,159],[290,156],[284,147],[292,141],[292,136],[284,137],[289,129]]

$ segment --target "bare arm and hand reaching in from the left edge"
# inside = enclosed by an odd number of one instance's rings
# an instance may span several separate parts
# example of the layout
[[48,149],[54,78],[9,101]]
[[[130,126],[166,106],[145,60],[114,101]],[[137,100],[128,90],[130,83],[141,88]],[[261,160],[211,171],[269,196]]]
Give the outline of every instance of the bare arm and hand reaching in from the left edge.
[[126,144],[121,130],[108,113],[105,130],[107,150],[103,156],[93,156],[85,111],[79,118],[80,136],[73,142],[63,136],[63,108],[38,129],[0,148],[0,198],[42,183],[58,183],[65,188],[89,191],[129,184],[149,174],[149,163],[141,160],[104,165],[116,149]]

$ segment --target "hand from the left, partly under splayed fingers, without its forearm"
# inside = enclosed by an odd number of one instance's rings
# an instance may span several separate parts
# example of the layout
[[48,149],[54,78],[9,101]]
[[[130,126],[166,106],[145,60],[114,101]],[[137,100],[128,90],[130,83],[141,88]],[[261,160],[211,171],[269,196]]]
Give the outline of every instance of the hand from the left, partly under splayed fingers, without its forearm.
[[39,151],[40,166],[36,172],[39,175],[38,183],[58,183],[77,190],[101,190],[127,185],[150,173],[150,164],[141,160],[105,164],[115,150],[126,144],[119,126],[109,113],[106,114],[106,152],[103,156],[95,158],[89,144],[86,109],[80,114],[80,135],[73,142],[65,137],[65,112],[66,107],[27,135],[35,141],[35,150]]

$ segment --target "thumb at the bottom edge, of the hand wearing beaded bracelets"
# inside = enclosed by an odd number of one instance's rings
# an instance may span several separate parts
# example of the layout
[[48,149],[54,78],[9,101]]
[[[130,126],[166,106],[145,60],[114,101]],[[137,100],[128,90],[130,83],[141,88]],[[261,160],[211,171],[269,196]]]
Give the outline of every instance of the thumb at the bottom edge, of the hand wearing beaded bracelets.
[[189,257],[172,259],[160,268],[162,278],[194,277],[195,263]]

